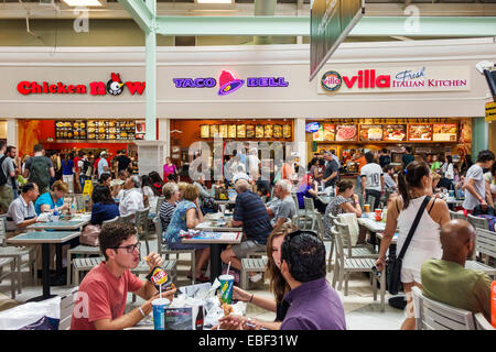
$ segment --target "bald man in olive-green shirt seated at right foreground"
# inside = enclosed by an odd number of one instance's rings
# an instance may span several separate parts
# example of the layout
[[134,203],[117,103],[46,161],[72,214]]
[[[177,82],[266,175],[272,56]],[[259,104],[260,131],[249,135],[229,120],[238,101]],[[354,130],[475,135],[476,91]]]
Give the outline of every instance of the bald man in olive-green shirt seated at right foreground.
[[484,314],[490,321],[489,276],[466,270],[465,258],[475,249],[475,230],[466,221],[452,220],[441,229],[441,260],[429,260],[422,265],[422,293],[425,297],[446,305]]

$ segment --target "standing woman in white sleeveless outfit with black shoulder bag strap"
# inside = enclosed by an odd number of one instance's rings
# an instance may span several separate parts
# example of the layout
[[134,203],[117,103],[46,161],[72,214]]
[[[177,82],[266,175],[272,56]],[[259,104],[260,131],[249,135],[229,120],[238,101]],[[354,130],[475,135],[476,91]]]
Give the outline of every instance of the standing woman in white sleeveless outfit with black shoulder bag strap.
[[[376,267],[385,268],[386,252],[389,249],[396,229],[399,229],[396,253],[399,255],[407,240],[408,232],[420,210],[425,197],[432,197],[432,176],[425,162],[412,162],[405,172],[398,176],[400,196],[390,201],[386,231],[380,243],[379,258]],[[440,241],[441,227],[450,221],[448,206],[442,199],[432,198],[422,213],[420,222],[405,254],[401,267],[401,283],[407,295],[407,309],[412,305],[411,288],[422,288],[420,270],[427,260],[441,258]],[[407,318],[401,326],[402,330],[414,330],[414,317]]]

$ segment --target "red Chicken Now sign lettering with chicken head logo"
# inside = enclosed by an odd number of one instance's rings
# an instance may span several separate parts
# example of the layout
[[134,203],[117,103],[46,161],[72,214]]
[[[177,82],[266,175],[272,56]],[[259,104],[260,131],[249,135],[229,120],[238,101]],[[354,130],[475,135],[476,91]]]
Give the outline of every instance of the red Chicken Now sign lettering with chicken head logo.
[[144,81],[122,81],[119,74],[112,73],[110,80],[91,81],[89,85],[66,85],[62,81],[56,84],[50,84],[47,81],[36,82],[22,80],[18,84],[18,91],[21,95],[86,95],[89,92],[91,96],[105,96],[107,94],[111,96],[119,96],[123,92],[125,88],[133,96],[138,94],[141,96],[145,88]]

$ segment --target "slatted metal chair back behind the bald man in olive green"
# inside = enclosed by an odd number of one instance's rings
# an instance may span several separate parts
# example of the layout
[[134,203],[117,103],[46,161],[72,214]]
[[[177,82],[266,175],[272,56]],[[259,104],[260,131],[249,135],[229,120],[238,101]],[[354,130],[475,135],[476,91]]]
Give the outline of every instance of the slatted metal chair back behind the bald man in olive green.
[[472,311],[427,298],[417,286],[411,292],[417,330],[475,330]]

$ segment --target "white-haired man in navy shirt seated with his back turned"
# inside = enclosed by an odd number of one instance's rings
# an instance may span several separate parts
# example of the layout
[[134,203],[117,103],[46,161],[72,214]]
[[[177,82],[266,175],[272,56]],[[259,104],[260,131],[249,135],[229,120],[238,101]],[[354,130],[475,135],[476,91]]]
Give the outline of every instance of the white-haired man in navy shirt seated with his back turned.
[[[240,271],[241,258],[248,257],[249,252],[266,251],[267,238],[272,231],[269,215],[260,197],[249,190],[250,186],[246,179],[239,179],[235,185],[238,196],[233,215],[233,222],[229,227],[240,228],[246,235],[246,240],[240,244],[233,245],[230,249],[220,253],[224,263]],[[261,274],[249,273],[250,279],[259,282]]]

